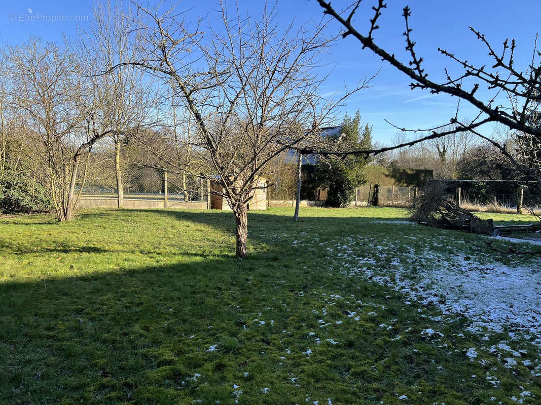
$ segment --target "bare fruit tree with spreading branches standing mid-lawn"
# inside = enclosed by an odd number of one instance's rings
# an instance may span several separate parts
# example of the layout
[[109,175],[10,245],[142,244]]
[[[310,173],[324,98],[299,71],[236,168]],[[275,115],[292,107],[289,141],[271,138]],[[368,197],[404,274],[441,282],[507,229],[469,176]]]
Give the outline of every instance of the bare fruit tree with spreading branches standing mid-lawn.
[[[294,23],[280,30],[275,10],[261,18],[228,16],[221,6],[221,31],[188,29],[175,9],[138,7],[136,30],[146,43],[130,62],[162,79],[188,112],[184,132],[175,139],[184,157],[154,151],[170,170],[213,180],[236,220],[236,256],[247,256],[248,204],[271,160],[315,133],[332,119],[346,96],[328,102],[320,96],[315,68],[332,38]],[[118,64],[115,68],[124,64]],[[361,83],[355,90],[365,86]],[[176,104],[176,103],[174,103]],[[171,139],[172,141],[172,139]],[[188,156],[189,153],[189,156]]]

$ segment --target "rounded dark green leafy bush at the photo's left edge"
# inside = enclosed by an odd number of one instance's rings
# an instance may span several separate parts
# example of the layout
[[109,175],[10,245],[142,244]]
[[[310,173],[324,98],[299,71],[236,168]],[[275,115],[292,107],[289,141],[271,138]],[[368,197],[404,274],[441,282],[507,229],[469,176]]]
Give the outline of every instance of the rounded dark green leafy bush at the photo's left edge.
[[24,173],[5,171],[0,178],[0,212],[4,214],[48,211],[50,200],[41,184],[32,184]]

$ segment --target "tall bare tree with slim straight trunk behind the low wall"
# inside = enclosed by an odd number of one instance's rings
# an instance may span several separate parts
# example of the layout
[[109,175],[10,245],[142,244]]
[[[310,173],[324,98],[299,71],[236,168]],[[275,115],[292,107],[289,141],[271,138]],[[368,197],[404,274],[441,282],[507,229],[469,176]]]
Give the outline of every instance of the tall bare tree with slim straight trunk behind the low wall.
[[[94,18],[86,30],[67,40],[77,55],[89,92],[81,100],[87,138],[107,138],[114,143],[114,164],[118,204],[122,205],[121,141],[134,139],[141,128],[157,123],[157,92],[144,72],[123,64],[140,49],[141,36],[130,32],[131,9],[122,2],[96,3]],[[106,75],[95,75],[118,68]],[[92,145],[82,145],[91,147]]]

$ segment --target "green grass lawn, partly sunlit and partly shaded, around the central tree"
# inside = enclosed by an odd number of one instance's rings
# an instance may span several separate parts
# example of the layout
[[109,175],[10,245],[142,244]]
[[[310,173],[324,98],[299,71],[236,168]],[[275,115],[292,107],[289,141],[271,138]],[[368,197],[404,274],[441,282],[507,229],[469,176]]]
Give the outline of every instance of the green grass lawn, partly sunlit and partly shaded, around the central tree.
[[[400,266],[415,280],[427,252],[447,267],[535,258],[392,224],[397,208],[292,213],[250,212],[245,260],[227,212],[0,217],[0,403],[540,403],[536,336],[515,336],[513,365],[489,350],[512,330],[472,332],[381,282]],[[349,270],[360,257],[373,279]]]

